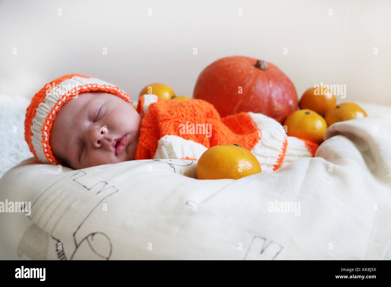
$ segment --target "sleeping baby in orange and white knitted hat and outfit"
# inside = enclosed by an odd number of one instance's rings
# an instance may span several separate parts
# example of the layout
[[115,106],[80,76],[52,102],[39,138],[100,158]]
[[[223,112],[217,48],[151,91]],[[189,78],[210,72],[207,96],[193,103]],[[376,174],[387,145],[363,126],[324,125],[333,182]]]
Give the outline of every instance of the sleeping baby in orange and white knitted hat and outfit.
[[314,157],[317,144],[287,136],[263,114],[221,118],[203,100],[140,96],[137,109],[118,87],[83,75],[65,75],[43,87],[26,111],[25,140],[40,163],[73,169],[140,159],[198,160],[208,148],[239,144],[262,171]]

